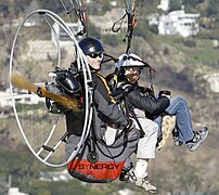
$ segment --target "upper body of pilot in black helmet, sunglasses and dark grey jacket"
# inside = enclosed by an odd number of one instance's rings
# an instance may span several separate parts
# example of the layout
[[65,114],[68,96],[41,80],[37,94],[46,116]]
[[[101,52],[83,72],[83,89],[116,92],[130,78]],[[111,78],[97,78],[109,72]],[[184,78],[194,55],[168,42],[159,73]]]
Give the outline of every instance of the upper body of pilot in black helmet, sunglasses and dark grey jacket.
[[[119,128],[125,128],[128,126],[129,121],[124,116],[123,112],[118,108],[115,100],[111,95],[111,91],[106,84],[106,81],[102,75],[99,74],[101,69],[101,63],[103,61],[103,46],[101,42],[93,38],[87,37],[79,41],[79,47],[87,57],[87,62],[91,67],[92,78],[93,78],[93,102],[94,105],[102,115],[102,118],[96,118],[96,120],[108,120],[112,123],[117,123]],[[101,121],[99,121],[101,123]],[[98,123],[99,123],[98,122]],[[98,127],[100,129],[100,127]]]

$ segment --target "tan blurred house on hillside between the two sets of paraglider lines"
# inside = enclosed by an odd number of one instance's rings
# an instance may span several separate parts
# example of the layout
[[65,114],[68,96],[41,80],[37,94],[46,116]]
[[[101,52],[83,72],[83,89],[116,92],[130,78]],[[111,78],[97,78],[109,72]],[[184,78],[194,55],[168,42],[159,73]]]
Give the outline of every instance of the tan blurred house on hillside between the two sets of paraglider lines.
[[[100,32],[102,35],[112,35],[112,27],[116,21],[118,21],[125,14],[125,10],[123,8],[114,8],[111,11],[107,11],[104,15],[90,15],[90,22],[100,28]],[[116,27],[119,27],[120,23]],[[128,22],[127,17],[125,17],[120,30],[118,32],[124,32],[127,30]]]

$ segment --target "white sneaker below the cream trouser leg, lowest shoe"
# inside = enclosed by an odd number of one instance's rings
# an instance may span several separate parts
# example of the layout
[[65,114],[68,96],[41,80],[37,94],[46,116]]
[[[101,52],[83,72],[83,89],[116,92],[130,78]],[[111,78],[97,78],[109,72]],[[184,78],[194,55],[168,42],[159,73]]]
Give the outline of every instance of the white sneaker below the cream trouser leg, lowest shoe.
[[137,177],[136,171],[133,169],[129,171],[129,182],[134,183],[138,187],[141,187],[144,191],[150,192],[151,194],[158,193],[156,186],[154,186],[149,182],[147,177],[144,178]]

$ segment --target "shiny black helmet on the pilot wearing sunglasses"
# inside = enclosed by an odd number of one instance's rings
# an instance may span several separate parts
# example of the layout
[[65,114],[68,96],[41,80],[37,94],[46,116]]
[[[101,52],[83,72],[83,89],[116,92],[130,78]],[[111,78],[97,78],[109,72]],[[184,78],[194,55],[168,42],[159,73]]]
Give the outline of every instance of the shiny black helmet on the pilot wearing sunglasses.
[[93,37],[87,37],[80,40],[78,44],[85,54],[98,53],[104,51],[101,42]]

